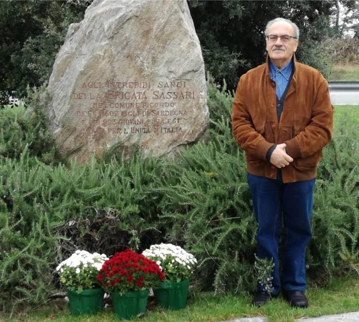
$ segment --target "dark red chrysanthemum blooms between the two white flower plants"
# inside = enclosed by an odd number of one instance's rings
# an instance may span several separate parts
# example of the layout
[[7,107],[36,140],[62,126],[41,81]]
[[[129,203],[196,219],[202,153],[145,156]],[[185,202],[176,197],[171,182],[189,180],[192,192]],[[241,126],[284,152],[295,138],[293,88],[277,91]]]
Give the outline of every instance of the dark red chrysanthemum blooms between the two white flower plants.
[[105,261],[97,281],[107,293],[125,294],[155,287],[164,278],[155,261],[128,249]]

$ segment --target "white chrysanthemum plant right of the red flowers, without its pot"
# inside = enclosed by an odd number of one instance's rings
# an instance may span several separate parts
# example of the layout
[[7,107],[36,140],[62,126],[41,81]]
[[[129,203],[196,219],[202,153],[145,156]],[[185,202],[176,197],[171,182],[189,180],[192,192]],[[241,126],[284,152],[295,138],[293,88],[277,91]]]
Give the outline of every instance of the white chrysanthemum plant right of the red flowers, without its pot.
[[193,274],[197,260],[183,248],[172,244],[155,244],[142,253],[155,260],[166,275],[166,281],[180,282]]

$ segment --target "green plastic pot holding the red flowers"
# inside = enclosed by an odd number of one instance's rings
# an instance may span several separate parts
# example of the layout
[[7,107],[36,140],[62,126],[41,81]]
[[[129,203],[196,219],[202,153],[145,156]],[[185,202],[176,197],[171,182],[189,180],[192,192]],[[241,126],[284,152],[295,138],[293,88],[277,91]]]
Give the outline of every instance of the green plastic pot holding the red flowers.
[[141,313],[145,313],[148,294],[148,290],[127,292],[123,295],[111,293],[115,315],[128,320]]

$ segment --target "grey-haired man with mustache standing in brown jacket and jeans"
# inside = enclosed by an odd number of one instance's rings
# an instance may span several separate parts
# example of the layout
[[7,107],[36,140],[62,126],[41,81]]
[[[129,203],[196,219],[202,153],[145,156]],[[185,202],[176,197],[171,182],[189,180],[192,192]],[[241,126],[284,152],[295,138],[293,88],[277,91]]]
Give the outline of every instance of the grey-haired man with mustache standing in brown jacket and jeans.
[[[257,255],[273,259],[273,291],[261,286],[262,306],[282,288],[294,307],[307,307],[305,251],[316,167],[330,142],[333,107],[328,83],[316,69],[295,61],[299,30],[276,18],[265,30],[267,62],[242,75],[233,102],[232,128],[246,151],[248,184],[258,222]],[[283,274],[278,242],[284,220]]]

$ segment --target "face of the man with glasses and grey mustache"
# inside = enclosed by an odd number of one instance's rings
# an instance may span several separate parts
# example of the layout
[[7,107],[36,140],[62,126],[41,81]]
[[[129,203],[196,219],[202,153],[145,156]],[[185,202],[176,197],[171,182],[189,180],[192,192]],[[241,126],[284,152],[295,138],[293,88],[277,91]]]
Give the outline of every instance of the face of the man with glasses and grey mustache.
[[[295,36],[292,26],[285,21],[278,21],[271,25],[268,29],[268,35],[270,34]],[[268,39],[266,42],[269,57],[278,68],[283,68],[289,63],[298,46],[298,41],[293,38],[287,43],[282,42],[280,37],[276,42],[271,42]]]

